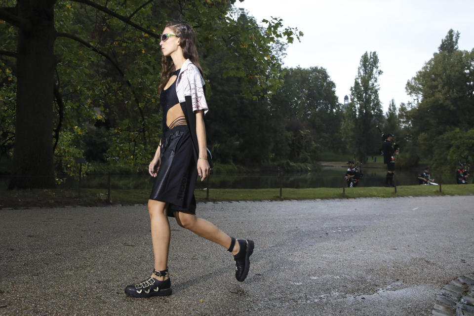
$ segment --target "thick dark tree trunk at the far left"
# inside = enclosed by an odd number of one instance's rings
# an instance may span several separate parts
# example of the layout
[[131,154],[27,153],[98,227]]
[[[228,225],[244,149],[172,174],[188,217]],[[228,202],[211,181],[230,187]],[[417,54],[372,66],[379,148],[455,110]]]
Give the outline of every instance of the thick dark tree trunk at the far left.
[[15,149],[9,189],[54,186],[52,105],[55,40],[51,0],[18,1],[33,28],[18,30]]

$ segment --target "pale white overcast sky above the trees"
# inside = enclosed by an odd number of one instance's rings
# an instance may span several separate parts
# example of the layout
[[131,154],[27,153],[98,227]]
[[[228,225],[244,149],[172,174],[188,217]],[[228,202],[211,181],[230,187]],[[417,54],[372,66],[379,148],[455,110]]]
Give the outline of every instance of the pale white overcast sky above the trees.
[[351,96],[360,57],[379,57],[379,98],[411,100],[406,82],[433,57],[449,29],[460,32],[459,49],[474,48],[474,0],[244,0],[236,1],[260,22],[279,17],[304,33],[289,44],[284,66],[325,68],[344,103]]

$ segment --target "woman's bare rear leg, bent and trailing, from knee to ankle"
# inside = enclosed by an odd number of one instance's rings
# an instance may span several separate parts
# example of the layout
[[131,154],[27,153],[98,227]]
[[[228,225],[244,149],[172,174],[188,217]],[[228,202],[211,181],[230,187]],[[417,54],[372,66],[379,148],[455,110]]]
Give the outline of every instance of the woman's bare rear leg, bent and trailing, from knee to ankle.
[[[211,222],[206,221],[205,219],[198,218],[194,214],[188,214],[183,212],[174,212],[174,217],[179,226],[189,229],[191,232],[196,235],[206,238],[210,241],[213,241],[217,244],[220,244],[224,248],[228,249],[231,245],[231,237],[218,229]],[[235,243],[232,254],[236,255],[240,246],[238,242]]]

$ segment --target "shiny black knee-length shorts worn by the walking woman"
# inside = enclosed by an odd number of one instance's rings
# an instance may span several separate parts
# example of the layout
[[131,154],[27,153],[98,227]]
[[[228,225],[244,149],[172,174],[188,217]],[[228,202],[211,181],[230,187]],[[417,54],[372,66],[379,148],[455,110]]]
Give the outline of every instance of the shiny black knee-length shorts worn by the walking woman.
[[196,214],[197,168],[188,125],[178,125],[161,137],[159,166],[150,199],[167,202],[167,215]]

